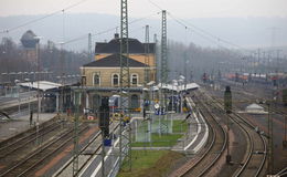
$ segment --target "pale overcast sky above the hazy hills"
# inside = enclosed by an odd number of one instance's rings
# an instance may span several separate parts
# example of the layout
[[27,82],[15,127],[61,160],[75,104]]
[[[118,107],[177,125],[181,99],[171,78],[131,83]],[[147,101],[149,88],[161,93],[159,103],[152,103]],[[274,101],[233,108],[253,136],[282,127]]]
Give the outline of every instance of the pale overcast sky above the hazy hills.
[[[0,0],[0,15],[44,14],[81,0]],[[119,14],[120,0],[82,0],[68,13]],[[159,9],[179,18],[287,17],[287,0],[128,0],[129,15],[146,17]]]

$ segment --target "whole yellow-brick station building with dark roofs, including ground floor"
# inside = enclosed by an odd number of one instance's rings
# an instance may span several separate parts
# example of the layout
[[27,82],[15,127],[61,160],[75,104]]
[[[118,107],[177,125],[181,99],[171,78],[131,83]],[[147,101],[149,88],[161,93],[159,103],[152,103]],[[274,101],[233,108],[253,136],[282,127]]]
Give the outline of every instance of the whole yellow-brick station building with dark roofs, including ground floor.
[[[141,43],[137,39],[128,39],[130,101],[131,108],[140,107],[141,93],[145,85],[145,71],[148,81],[156,81],[156,43]],[[85,87],[85,107],[96,110],[103,96],[118,94],[120,86],[120,39],[116,33],[109,42],[96,42],[95,61],[81,67],[83,86]]]

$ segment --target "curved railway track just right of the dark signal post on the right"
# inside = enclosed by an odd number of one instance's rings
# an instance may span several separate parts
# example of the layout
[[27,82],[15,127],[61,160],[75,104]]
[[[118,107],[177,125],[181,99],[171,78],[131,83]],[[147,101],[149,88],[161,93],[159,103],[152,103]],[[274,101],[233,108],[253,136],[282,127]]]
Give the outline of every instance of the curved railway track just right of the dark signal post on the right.
[[[205,96],[209,95],[205,94]],[[221,101],[214,100],[212,97],[210,97],[210,100],[213,100],[211,103],[214,107],[217,107],[219,110],[224,112],[223,103]],[[266,138],[261,133],[256,132],[255,127],[238,114],[233,113],[232,115],[230,115],[230,119],[232,119],[241,127],[242,131],[245,132],[249,144],[247,146],[248,149],[246,158],[242,162],[242,167],[237,169],[233,176],[264,176],[265,171],[263,169],[267,157]]]

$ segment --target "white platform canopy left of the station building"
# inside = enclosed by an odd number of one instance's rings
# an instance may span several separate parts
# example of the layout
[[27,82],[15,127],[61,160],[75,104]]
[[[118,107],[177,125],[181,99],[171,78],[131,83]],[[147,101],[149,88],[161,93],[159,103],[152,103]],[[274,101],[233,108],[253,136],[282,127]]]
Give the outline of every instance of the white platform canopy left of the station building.
[[[19,83],[18,85],[24,86],[24,87],[31,87],[33,90],[38,90],[38,82],[23,82]],[[47,90],[53,90],[53,88],[59,88],[61,87],[62,84],[54,83],[54,82],[49,82],[49,81],[39,81],[39,90],[41,91],[47,91]]]

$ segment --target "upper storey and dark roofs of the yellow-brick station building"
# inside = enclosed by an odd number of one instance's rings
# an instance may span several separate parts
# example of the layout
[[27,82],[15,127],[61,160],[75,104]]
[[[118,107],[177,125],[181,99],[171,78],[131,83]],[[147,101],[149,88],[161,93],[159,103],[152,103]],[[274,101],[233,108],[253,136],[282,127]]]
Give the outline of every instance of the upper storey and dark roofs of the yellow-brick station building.
[[[156,44],[128,39],[130,85],[144,85],[145,70],[149,81],[156,81]],[[120,76],[120,39],[118,34],[109,42],[97,42],[95,61],[81,67],[86,86],[118,87]],[[126,58],[124,58],[127,60]]]

